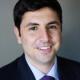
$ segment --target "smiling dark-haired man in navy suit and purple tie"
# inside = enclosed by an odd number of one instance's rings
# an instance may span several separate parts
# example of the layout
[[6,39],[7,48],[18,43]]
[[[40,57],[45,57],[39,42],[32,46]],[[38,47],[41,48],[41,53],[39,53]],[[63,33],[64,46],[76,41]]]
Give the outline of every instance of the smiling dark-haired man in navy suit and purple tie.
[[62,41],[57,0],[19,0],[14,22],[24,54],[0,69],[0,80],[80,80],[80,64],[57,56]]

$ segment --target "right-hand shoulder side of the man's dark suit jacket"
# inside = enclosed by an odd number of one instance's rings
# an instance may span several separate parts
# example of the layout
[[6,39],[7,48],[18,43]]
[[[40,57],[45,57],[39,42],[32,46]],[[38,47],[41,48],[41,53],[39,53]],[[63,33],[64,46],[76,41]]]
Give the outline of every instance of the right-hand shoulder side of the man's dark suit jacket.
[[65,59],[62,57],[57,58],[59,73],[63,80],[80,80],[80,63]]

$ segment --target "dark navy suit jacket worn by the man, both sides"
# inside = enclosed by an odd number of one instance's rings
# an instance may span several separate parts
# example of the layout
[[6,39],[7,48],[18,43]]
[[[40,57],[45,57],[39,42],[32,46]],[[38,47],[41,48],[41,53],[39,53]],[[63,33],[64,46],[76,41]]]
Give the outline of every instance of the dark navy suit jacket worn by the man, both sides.
[[[80,80],[80,64],[58,57],[60,80]],[[24,55],[0,69],[0,80],[35,80]]]

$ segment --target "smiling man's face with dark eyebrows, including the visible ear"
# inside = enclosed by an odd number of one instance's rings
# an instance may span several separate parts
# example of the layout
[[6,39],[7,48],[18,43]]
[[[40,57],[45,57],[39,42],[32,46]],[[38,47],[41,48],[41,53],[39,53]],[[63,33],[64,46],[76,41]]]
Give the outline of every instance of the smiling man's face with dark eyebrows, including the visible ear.
[[16,27],[14,30],[32,64],[49,64],[54,60],[61,43],[61,23],[55,11],[42,8],[26,12],[20,25],[21,36]]

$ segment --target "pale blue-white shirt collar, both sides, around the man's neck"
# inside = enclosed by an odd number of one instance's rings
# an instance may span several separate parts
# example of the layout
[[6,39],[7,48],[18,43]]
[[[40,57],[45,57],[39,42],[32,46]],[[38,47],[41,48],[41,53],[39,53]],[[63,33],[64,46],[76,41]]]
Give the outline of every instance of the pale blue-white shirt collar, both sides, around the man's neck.
[[[25,56],[26,58],[26,56]],[[42,73],[39,69],[37,69],[36,67],[34,67],[30,62],[29,60],[27,60],[26,58],[26,61],[31,69],[31,71],[33,72],[33,75],[35,76],[35,79],[36,80],[40,80],[45,74]],[[58,80],[58,71],[57,71],[57,58],[55,57],[55,63],[54,65],[52,66],[51,70],[47,73],[48,76],[52,76],[54,77],[56,80]]]

